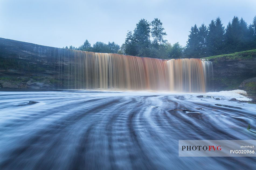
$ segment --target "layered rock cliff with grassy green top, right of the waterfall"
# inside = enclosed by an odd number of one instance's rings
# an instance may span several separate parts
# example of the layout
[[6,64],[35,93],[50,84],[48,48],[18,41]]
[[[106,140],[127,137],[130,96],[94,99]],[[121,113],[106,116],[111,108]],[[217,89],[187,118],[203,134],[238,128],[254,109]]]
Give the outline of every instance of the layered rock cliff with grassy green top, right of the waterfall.
[[[213,62],[212,90],[242,89],[256,93],[247,88],[248,81],[244,82],[246,79],[256,77],[256,50],[207,57],[207,59]],[[252,80],[250,86],[254,84]]]

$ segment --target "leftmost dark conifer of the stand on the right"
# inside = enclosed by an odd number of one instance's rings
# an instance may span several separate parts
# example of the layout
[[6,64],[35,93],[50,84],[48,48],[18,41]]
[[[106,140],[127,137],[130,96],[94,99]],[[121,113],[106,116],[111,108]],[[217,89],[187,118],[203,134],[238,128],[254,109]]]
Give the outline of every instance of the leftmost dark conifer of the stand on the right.
[[185,49],[185,53],[189,58],[198,58],[199,57],[199,37],[198,37],[198,28],[195,24],[194,27],[191,27],[190,34],[188,35],[188,41]]

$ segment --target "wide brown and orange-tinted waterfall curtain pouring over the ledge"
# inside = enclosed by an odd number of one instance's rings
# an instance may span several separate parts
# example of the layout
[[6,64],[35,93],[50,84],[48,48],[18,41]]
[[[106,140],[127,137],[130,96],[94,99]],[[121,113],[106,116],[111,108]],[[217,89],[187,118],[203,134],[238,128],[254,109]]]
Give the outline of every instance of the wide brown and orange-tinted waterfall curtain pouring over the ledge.
[[56,48],[56,80],[69,89],[206,91],[212,63],[195,58],[162,60]]

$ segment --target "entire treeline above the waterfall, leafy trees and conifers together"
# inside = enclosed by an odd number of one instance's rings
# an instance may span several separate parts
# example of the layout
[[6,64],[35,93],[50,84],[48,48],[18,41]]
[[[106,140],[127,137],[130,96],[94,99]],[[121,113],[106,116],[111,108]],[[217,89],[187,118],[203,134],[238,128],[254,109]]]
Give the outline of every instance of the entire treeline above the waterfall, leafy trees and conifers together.
[[69,49],[169,59],[201,58],[256,49],[256,16],[250,25],[243,18],[239,20],[234,16],[226,28],[220,17],[217,17],[208,27],[205,24],[200,27],[194,25],[189,32],[185,47],[178,42],[171,45],[165,39],[167,34],[159,19],[155,18],[151,22],[141,19],[134,31],[128,31],[121,47],[115,42],[96,42],[91,46],[86,40],[78,48],[70,46]]

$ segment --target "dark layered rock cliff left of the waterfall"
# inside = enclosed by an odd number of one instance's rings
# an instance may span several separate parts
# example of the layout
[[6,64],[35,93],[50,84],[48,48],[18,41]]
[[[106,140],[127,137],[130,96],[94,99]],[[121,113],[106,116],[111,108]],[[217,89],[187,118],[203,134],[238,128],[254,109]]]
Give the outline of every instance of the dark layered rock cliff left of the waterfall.
[[0,88],[62,88],[67,77],[58,73],[68,61],[58,49],[0,38]]

